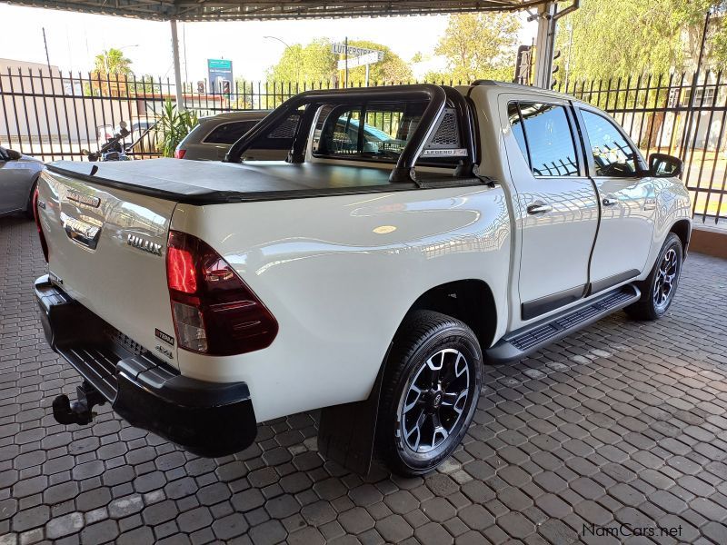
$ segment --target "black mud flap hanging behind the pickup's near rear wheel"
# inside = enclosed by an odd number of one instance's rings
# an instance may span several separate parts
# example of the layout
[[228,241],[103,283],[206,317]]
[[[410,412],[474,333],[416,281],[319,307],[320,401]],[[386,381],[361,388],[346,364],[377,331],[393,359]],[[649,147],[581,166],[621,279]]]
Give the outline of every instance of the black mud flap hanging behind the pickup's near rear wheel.
[[347,470],[360,475],[367,475],[371,469],[383,370],[391,349],[390,344],[367,399],[326,407],[321,411],[318,451],[328,460],[337,461]]

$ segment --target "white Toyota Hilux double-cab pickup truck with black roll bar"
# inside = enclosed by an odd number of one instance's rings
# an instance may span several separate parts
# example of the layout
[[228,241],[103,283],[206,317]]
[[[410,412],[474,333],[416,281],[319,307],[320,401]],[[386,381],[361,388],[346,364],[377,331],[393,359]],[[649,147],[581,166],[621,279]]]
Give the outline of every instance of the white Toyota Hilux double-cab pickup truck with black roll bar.
[[432,471],[483,364],[666,312],[691,233],[681,171],[589,104],[489,81],[299,94],[220,163],[50,163],[35,292],[84,379],[55,418],[107,401],[215,457],[323,407],[325,455]]

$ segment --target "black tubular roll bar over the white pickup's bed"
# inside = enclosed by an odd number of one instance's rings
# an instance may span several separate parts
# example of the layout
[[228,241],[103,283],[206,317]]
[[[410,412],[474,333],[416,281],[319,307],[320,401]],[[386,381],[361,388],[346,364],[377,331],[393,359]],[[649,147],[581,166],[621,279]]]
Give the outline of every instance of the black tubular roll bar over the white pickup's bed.
[[443,87],[435,84],[413,84],[413,85],[389,85],[384,87],[368,87],[340,90],[319,90],[304,91],[296,94],[283,104],[277,107],[271,114],[254,126],[237,140],[224,156],[225,163],[239,163],[244,152],[258,139],[270,134],[275,126],[284,123],[291,114],[297,114],[300,108],[304,108],[301,122],[298,124],[294,135],[294,144],[288,161],[302,163],[304,161],[304,144],[310,134],[311,124],[314,121],[314,114],[322,104],[347,104],[355,101],[394,101],[394,100],[416,100],[425,99],[428,101],[424,108],[422,118],[417,124],[412,137],[404,146],[399,159],[390,175],[392,182],[413,182],[416,183],[414,164],[419,155],[422,154],[425,144],[433,135],[436,129],[436,122],[439,120],[444,107],[449,100],[458,114],[461,123],[461,130],[464,142],[470,154],[467,163],[472,173],[472,165],[475,161],[475,145],[473,137],[472,116],[469,114],[468,105],[462,94],[452,87]]

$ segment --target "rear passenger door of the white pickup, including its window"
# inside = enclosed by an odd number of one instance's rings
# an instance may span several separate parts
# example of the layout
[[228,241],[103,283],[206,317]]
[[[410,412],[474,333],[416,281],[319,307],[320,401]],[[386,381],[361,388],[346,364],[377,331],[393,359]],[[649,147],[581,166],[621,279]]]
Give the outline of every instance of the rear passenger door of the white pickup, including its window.
[[506,113],[511,131],[505,145],[522,237],[521,319],[528,321],[585,294],[598,201],[568,101],[509,98]]

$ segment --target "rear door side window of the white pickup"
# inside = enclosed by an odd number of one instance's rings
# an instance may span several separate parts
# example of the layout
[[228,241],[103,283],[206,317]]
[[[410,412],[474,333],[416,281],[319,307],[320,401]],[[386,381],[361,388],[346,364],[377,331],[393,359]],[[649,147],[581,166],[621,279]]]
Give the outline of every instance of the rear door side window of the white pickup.
[[577,176],[573,133],[565,108],[555,104],[520,103],[523,134],[536,176]]

